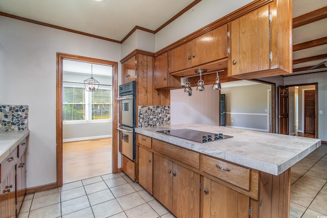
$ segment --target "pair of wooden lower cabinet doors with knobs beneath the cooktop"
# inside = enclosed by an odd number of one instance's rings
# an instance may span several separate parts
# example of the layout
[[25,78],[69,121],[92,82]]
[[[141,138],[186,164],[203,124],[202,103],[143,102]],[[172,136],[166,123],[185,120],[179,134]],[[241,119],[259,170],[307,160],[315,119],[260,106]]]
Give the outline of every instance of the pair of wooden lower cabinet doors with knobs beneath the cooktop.
[[153,154],[153,196],[177,217],[199,217],[200,175]]

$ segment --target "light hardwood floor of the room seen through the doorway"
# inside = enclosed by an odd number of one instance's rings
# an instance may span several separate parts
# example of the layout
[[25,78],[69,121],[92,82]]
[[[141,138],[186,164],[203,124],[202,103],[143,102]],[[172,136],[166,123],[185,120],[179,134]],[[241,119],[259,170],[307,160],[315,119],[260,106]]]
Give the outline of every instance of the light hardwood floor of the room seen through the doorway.
[[111,173],[111,138],[64,142],[62,163],[64,184]]

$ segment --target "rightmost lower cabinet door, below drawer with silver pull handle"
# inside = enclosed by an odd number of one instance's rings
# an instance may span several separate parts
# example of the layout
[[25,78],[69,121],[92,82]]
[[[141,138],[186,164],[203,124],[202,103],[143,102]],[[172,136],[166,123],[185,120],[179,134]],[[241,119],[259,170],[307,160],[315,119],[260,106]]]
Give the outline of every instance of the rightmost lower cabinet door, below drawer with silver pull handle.
[[206,177],[203,192],[203,218],[249,217],[249,197]]

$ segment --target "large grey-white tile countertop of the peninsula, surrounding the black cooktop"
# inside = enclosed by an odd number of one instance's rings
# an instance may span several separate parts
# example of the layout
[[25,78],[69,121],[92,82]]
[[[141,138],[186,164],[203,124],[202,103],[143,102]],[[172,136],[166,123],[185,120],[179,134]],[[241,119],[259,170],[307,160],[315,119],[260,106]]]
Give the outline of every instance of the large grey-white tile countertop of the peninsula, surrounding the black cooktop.
[[[171,129],[192,129],[233,137],[199,143],[156,132]],[[201,124],[136,128],[135,132],[272,175],[283,173],[321,145],[321,140],[315,138]]]

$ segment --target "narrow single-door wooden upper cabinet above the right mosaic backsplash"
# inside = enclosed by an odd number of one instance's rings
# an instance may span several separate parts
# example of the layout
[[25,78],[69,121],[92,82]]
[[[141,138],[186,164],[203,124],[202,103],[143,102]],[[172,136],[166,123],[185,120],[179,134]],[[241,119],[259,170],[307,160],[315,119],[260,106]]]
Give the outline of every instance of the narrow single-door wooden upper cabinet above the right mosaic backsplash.
[[154,59],[154,88],[181,88],[179,77],[169,75],[167,69],[168,53]]

